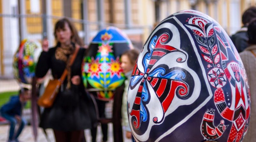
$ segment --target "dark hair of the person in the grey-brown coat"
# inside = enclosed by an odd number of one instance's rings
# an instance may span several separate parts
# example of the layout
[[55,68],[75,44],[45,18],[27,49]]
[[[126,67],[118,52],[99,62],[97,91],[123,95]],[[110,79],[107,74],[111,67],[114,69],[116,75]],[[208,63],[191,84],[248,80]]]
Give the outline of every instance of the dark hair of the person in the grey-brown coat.
[[249,44],[256,44],[256,19],[255,18],[248,25],[247,34],[248,34],[248,39],[249,39],[248,43]]

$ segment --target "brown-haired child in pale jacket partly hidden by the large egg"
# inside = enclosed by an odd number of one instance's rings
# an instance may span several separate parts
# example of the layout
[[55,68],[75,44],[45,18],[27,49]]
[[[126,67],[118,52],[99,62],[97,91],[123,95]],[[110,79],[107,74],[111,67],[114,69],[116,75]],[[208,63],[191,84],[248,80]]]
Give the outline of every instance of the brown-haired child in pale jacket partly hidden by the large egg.
[[124,81],[124,94],[123,94],[123,105],[122,105],[122,118],[123,126],[126,132],[126,138],[132,138],[131,128],[129,126],[128,117],[127,117],[127,92],[129,87],[130,78],[132,75],[132,70],[136,63],[137,57],[139,56],[139,51],[136,49],[131,49],[121,56],[121,67],[124,70],[125,77],[127,78]]

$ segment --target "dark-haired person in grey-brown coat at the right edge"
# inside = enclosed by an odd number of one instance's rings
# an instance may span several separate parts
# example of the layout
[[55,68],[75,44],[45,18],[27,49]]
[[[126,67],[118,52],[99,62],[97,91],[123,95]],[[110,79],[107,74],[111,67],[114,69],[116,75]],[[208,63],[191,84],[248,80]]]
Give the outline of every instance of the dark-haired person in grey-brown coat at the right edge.
[[239,55],[244,64],[244,69],[247,73],[247,79],[250,86],[251,93],[251,117],[249,122],[249,128],[244,138],[244,142],[256,141],[256,19],[253,20],[248,26],[248,44],[249,46],[244,49]]

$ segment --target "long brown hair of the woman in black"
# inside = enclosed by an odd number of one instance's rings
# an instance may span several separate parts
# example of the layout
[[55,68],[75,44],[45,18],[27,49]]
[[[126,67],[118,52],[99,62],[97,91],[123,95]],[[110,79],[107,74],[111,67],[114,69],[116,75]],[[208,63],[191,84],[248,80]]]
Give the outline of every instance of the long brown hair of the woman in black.
[[71,23],[67,18],[63,18],[63,19],[60,19],[59,21],[57,21],[57,23],[55,24],[55,28],[54,28],[54,36],[55,36],[55,39],[57,39],[57,35],[56,35],[56,31],[58,29],[64,29],[65,28],[65,23],[68,24],[70,30],[71,30],[71,41],[80,45],[80,46],[83,46],[84,43],[83,41],[81,40],[81,38],[78,36],[77,34],[77,30],[75,28],[75,26],[73,25],[73,23]]

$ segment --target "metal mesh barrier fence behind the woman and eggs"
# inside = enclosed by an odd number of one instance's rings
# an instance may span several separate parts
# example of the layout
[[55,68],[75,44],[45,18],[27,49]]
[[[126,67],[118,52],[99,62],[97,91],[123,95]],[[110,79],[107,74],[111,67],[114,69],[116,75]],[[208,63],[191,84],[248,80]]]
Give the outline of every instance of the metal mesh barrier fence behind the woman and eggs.
[[[63,17],[45,14],[0,14],[0,21],[2,21],[0,23],[0,26],[2,26],[2,34],[0,31],[0,77],[7,76],[12,78],[12,56],[18,48],[20,40],[27,38],[40,43],[43,37],[47,37],[49,46],[54,46],[53,29],[56,21],[61,18]],[[148,37],[152,31],[152,26],[131,26],[84,19],[68,19],[74,23],[85,45],[89,44],[100,28],[116,26],[130,37],[135,47],[141,49],[144,42],[143,36]],[[144,34],[145,31],[147,34]]]

